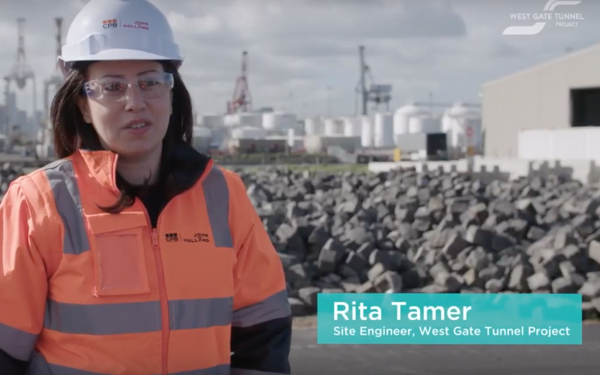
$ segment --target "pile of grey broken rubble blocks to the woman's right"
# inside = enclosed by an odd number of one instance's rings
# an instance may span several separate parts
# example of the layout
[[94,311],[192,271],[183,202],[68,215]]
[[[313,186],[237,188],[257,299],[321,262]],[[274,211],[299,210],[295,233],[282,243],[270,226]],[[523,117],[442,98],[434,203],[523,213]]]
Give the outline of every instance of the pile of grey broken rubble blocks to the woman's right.
[[238,171],[293,313],[317,293],[580,293],[600,315],[600,188],[562,176]]

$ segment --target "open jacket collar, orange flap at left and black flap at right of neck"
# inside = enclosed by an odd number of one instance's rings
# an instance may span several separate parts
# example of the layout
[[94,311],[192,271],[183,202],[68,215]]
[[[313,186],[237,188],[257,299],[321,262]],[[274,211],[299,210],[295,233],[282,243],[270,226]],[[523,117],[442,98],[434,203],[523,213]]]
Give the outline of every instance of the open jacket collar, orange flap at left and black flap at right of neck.
[[[80,149],[81,156],[92,178],[101,186],[118,191],[116,185],[116,167],[118,155],[107,150]],[[170,176],[178,183],[191,188],[212,167],[212,159],[198,152],[187,143],[180,141],[174,147],[163,150],[163,158]]]

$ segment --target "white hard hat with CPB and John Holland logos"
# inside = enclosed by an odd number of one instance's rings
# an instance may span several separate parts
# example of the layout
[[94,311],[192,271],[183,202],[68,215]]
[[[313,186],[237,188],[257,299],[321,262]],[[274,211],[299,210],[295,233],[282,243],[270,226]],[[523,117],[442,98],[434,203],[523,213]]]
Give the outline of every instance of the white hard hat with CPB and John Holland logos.
[[106,60],[173,61],[184,56],[164,14],[148,0],[91,0],[77,14],[62,46],[59,65]]

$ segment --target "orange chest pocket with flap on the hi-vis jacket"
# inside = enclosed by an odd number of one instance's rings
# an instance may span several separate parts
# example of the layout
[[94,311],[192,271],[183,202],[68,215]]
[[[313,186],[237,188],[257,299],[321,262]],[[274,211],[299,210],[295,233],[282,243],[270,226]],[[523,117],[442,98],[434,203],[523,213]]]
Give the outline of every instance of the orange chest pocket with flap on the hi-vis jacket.
[[150,291],[143,245],[143,213],[94,214],[88,219],[94,262],[94,295],[137,295]]

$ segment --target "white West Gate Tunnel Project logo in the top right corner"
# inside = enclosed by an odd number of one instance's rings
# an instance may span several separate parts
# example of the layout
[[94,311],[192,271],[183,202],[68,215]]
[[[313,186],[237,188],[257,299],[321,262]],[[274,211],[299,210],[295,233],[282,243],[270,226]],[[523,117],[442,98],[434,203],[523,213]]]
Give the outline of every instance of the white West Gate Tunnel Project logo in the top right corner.
[[[536,20],[539,22],[530,26],[508,26],[504,29],[502,35],[537,35],[539,34],[547,21],[554,22],[554,26],[559,28],[577,27],[580,20],[583,20],[581,13],[553,13],[554,8],[559,5],[577,5],[582,0],[548,0],[542,13],[511,13],[511,20]],[[562,8],[561,8],[562,9]]]

